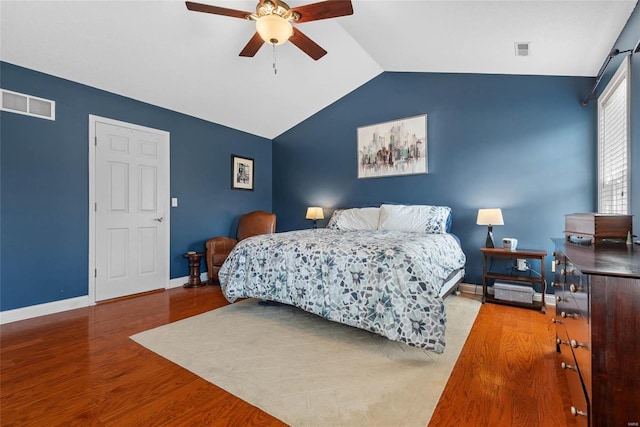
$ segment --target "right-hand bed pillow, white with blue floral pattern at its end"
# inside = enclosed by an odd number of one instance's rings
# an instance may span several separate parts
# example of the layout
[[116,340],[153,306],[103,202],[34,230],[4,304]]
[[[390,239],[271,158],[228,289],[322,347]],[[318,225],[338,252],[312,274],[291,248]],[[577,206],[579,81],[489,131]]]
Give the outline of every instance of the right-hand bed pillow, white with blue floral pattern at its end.
[[442,234],[451,208],[427,205],[382,205],[378,230]]

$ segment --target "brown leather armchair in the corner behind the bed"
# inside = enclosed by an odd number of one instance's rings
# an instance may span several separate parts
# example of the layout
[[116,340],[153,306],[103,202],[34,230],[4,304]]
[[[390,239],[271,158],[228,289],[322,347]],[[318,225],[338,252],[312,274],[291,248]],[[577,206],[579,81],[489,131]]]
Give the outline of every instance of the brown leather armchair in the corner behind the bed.
[[218,272],[234,246],[243,239],[259,234],[271,234],[276,231],[276,215],[265,211],[253,211],[244,214],[238,222],[237,239],[214,237],[207,240],[207,275],[209,284],[220,283]]

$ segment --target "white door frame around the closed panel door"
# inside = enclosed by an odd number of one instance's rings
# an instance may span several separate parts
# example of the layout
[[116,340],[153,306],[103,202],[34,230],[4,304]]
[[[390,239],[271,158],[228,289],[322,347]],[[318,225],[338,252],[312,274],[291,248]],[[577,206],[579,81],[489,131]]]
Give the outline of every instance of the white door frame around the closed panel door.
[[[96,304],[96,123],[106,123],[113,126],[122,126],[130,129],[135,129],[143,132],[152,132],[157,134],[163,134],[167,137],[167,144],[165,147],[165,155],[167,159],[167,170],[160,171],[160,173],[166,173],[168,178],[169,186],[167,191],[170,193],[171,191],[171,156],[170,156],[170,145],[171,145],[171,134],[167,131],[160,129],[153,129],[145,126],[136,125],[133,123],[122,122],[119,120],[108,119],[106,117],[94,116],[93,114],[89,115],[89,268],[88,268],[88,277],[89,277],[89,304]],[[165,219],[167,222],[167,233],[166,233],[166,241],[165,247],[167,248],[167,252],[164,255],[164,259],[162,262],[167,266],[167,277],[164,279],[163,287],[167,289],[169,287],[169,275],[170,275],[170,252],[171,252],[171,207],[170,207],[170,198],[166,197],[164,202],[165,204]]]

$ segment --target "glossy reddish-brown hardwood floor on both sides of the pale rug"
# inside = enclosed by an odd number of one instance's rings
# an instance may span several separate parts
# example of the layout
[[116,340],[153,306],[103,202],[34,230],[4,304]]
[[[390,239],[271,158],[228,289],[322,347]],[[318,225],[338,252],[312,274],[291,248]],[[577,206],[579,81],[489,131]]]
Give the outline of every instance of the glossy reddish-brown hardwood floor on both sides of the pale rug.
[[[227,304],[176,288],[0,326],[3,426],[281,426],[129,336]],[[551,315],[484,305],[430,426],[567,426]]]

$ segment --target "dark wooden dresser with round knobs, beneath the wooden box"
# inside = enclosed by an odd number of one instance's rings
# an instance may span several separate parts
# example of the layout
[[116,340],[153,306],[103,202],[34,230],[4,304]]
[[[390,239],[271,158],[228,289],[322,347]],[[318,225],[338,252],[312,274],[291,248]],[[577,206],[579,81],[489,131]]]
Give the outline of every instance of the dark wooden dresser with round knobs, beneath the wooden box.
[[640,426],[640,246],[553,241],[571,413],[578,425]]

